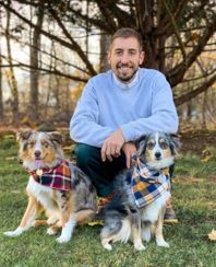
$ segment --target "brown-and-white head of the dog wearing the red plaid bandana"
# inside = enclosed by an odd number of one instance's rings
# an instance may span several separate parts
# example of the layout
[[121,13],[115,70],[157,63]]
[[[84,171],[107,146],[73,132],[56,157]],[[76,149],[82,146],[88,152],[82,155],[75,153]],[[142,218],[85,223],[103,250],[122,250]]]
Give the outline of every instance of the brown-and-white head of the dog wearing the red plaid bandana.
[[20,160],[28,170],[51,167],[63,159],[63,137],[57,132],[25,131],[17,132]]

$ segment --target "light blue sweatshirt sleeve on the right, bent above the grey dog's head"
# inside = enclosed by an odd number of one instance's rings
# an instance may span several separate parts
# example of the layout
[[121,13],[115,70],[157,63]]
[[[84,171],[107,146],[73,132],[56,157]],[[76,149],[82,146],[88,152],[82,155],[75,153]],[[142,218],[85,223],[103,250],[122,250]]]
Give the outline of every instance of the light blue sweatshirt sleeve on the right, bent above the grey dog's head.
[[172,92],[164,74],[157,72],[152,84],[152,114],[121,125],[125,141],[136,140],[155,131],[175,134],[178,130],[178,115]]

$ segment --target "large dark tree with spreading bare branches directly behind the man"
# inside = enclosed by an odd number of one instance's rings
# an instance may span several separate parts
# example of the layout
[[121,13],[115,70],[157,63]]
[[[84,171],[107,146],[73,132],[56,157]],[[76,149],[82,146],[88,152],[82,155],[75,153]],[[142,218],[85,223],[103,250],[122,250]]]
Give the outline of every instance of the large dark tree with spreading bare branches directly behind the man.
[[[21,5],[38,9],[41,1],[16,0]],[[86,5],[87,3],[87,5]],[[214,1],[155,1],[155,0],[59,0],[44,1],[46,19],[59,26],[58,33],[50,33],[46,26],[39,26],[28,20],[22,12],[5,1],[0,0],[9,12],[23,23],[29,25],[55,44],[75,53],[81,63],[76,66],[85,76],[64,73],[60,69],[39,66],[25,66],[40,69],[44,72],[64,76],[73,80],[86,81],[97,72],[89,60],[89,51],[85,51],[74,38],[71,28],[76,25],[85,30],[87,35],[97,30],[109,36],[119,27],[136,28],[143,38],[145,50],[144,67],[163,71],[173,88],[177,105],[182,105],[205,92],[216,81],[213,61],[203,61],[205,72],[199,71],[197,59],[206,50],[216,49],[215,31],[216,14]],[[86,12],[86,7],[88,13]],[[105,53],[103,50],[103,53]],[[25,63],[20,63],[24,67]],[[58,65],[57,65],[58,67]],[[195,73],[191,68],[197,69]],[[86,74],[88,76],[86,78]],[[195,81],[195,82],[193,82]],[[187,86],[190,84],[190,88]]]

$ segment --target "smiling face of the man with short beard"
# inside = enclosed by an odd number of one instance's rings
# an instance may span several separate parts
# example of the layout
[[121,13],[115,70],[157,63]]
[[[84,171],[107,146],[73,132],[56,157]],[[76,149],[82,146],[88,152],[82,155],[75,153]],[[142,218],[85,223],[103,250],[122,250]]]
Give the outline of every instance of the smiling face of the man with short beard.
[[108,53],[108,62],[111,69],[117,78],[124,83],[132,81],[143,60],[144,51],[141,51],[139,42],[134,37],[116,38]]

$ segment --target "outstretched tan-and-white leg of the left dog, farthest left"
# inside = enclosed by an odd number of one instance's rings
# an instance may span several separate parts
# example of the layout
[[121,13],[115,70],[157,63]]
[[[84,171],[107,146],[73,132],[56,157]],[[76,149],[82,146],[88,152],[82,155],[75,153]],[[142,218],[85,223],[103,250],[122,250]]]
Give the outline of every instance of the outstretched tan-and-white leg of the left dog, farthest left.
[[37,199],[33,196],[29,196],[27,208],[25,210],[25,213],[21,220],[19,228],[14,231],[4,232],[4,235],[17,236],[21,235],[24,231],[28,230],[33,225],[33,222],[37,214],[37,207],[38,207]]

